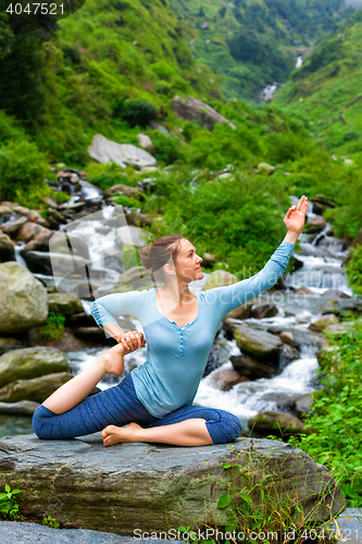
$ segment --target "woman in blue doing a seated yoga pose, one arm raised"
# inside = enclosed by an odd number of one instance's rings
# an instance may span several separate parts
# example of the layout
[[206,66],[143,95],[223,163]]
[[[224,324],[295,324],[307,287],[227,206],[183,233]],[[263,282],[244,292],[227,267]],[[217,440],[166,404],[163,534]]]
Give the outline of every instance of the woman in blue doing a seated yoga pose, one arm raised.
[[[236,416],[192,406],[192,400],[222,319],[276,283],[303,228],[307,209],[304,196],[289,208],[284,218],[288,233],[258,274],[197,295],[188,284],[202,279],[202,259],[188,239],[165,236],[142,249],[143,264],[162,287],[108,295],[91,305],[98,325],[117,345],[37,408],[35,433],[40,438],[71,438],[102,431],[104,446],[122,442],[205,446],[236,441],[241,432]],[[114,317],[122,313],[139,319],[145,337],[120,327]],[[143,364],[120,384],[87,397],[107,372],[120,375],[123,357],[146,339]]]

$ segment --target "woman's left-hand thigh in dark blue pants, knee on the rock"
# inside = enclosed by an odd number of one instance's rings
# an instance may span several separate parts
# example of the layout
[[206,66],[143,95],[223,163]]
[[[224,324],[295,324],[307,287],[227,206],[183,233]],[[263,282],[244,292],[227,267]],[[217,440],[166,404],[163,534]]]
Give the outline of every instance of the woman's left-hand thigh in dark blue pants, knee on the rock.
[[64,413],[54,413],[40,405],[33,416],[33,429],[39,438],[65,440],[101,431],[110,424],[148,424],[155,419],[137,399],[128,374],[118,385],[85,398]]

